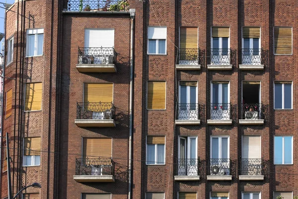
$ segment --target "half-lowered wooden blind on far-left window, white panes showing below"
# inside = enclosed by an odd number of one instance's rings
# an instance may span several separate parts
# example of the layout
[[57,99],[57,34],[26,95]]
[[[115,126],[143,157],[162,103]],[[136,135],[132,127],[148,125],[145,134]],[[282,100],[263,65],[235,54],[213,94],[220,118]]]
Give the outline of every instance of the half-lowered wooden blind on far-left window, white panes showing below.
[[[41,150],[40,137],[25,137],[24,138],[24,155],[40,155]],[[30,150],[29,150],[30,149]]]

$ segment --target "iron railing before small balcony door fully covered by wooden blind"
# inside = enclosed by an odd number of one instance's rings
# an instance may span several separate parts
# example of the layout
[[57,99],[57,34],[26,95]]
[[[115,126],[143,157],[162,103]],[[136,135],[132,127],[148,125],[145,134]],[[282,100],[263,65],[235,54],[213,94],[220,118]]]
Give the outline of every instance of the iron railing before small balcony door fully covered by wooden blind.
[[200,50],[198,48],[179,48],[178,65],[199,65]]

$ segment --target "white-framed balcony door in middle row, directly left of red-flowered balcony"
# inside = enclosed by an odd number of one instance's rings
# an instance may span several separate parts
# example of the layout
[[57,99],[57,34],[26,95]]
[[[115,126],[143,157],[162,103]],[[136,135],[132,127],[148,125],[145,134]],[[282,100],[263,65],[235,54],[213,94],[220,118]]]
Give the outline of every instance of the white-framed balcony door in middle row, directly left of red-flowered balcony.
[[198,119],[197,82],[179,82],[178,119]]

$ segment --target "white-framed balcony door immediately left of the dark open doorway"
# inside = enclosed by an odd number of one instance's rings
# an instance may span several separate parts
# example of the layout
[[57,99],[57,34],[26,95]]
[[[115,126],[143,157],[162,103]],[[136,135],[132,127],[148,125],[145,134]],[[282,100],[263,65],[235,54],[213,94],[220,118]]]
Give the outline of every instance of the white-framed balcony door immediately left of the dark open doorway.
[[212,82],[210,111],[211,119],[230,119],[228,82]]

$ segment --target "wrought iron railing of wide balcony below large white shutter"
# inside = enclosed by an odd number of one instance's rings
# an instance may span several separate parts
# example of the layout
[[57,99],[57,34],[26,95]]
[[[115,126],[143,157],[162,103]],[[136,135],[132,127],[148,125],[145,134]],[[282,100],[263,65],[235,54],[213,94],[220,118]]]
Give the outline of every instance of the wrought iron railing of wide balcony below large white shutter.
[[78,48],[78,64],[115,64],[116,59],[114,48]]

